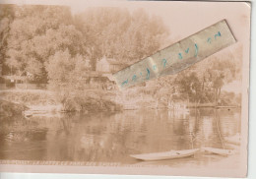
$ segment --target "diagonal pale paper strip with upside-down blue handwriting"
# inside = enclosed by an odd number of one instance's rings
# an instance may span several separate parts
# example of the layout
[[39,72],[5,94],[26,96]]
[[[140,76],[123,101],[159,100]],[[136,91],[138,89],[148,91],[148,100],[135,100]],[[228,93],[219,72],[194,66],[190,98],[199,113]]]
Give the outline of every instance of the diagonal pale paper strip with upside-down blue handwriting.
[[125,89],[160,76],[176,74],[233,43],[235,38],[223,20],[167,46],[113,76],[119,89]]

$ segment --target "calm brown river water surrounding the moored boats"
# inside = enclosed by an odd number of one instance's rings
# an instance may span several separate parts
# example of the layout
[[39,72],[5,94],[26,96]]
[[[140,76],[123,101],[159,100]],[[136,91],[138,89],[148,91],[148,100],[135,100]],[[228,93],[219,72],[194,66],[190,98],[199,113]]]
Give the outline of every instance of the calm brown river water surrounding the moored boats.
[[[189,114],[168,110],[127,110],[95,114],[50,114],[2,119],[0,159],[116,162],[174,167],[237,167],[239,147],[224,137],[240,133],[240,109],[200,108]],[[195,156],[143,162],[130,154],[170,149],[236,149],[232,156]]]

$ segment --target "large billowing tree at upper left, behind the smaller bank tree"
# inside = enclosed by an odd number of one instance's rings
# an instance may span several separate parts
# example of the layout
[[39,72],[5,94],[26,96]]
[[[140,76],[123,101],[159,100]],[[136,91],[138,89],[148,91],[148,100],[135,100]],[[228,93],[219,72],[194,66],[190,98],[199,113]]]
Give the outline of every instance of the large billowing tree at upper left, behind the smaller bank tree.
[[[47,39],[45,34],[50,30],[62,30],[72,23],[70,10],[50,6],[13,8],[15,15],[9,26],[5,64],[19,76],[27,76],[31,80],[46,79],[43,62],[51,55],[47,49],[54,41],[49,43],[52,39]],[[48,54],[42,55],[43,52]]]

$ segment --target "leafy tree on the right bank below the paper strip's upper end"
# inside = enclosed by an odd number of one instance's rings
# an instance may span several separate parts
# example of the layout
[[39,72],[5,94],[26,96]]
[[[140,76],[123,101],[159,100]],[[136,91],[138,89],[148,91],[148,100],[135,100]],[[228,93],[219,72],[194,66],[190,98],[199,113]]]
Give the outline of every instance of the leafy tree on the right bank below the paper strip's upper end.
[[217,105],[224,85],[241,78],[241,54],[242,48],[237,45],[179,73],[175,78],[179,92],[194,102]]

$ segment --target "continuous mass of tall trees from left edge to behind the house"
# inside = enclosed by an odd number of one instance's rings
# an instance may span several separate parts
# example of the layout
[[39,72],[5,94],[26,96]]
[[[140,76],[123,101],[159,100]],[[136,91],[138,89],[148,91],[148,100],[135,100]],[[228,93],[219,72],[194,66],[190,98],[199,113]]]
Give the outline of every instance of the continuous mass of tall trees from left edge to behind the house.
[[131,14],[126,9],[95,8],[75,16],[59,6],[2,5],[1,10],[1,59],[8,67],[4,73],[32,81],[55,79],[56,73],[46,67],[62,55],[66,58],[63,66],[55,66],[57,71],[81,61],[87,70],[95,70],[103,56],[120,63],[139,60],[158,50],[167,36],[160,20],[141,10]]

